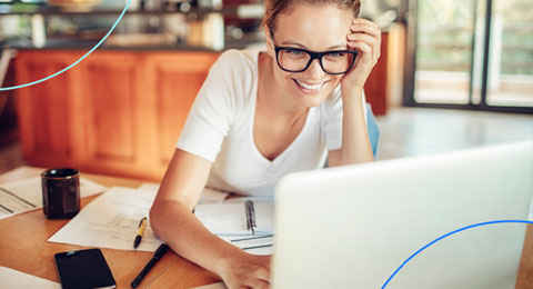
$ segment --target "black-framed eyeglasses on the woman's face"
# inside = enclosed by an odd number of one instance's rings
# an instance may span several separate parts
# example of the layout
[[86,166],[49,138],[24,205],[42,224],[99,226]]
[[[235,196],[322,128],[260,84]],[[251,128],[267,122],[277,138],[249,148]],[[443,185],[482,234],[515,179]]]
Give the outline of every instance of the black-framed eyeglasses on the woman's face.
[[[273,38],[272,38],[273,39]],[[302,48],[279,47],[274,43],[278,66],[288,72],[302,72],[309,68],[314,59],[328,74],[344,74],[352,69],[358,51],[331,50],[316,52]]]

